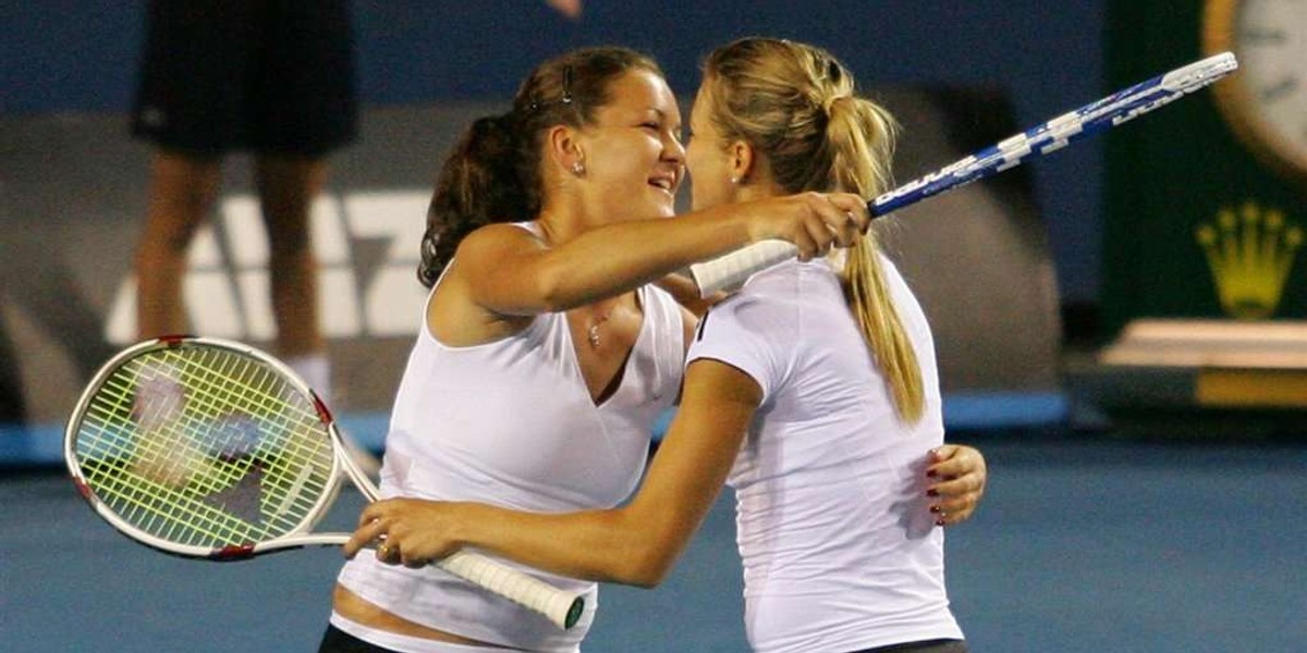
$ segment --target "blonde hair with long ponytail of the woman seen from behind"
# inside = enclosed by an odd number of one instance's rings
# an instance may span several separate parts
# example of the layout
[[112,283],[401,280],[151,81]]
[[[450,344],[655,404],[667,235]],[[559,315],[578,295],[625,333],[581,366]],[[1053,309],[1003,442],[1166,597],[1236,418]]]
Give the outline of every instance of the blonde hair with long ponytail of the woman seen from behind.
[[[825,50],[788,40],[746,38],[704,64],[715,127],[742,140],[771,166],[787,192],[846,191],[874,197],[890,187],[898,125],[882,107],[855,94],[850,74]],[[874,231],[846,253],[844,298],[906,422],[925,410],[916,351],[890,298]]]

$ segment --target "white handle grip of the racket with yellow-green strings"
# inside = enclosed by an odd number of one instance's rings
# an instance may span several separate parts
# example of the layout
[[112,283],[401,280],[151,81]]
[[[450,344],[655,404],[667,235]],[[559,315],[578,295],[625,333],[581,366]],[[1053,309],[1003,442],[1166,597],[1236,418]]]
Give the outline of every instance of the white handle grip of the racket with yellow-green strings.
[[562,629],[576,626],[586,611],[583,597],[563,592],[484,555],[457,551],[435,564],[463,580],[548,616]]

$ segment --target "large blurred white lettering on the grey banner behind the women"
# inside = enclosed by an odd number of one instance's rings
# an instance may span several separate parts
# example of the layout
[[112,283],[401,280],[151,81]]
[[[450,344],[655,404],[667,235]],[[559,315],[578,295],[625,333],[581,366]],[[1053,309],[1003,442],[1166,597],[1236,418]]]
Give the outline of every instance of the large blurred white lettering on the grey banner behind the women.
[[[325,337],[417,333],[426,291],[414,270],[427,201],[426,192],[397,191],[323,195],[314,202],[312,247],[318,257],[319,320]],[[366,272],[354,260],[356,243],[362,242],[383,243],[380,260]],[[268,251],[257,199],[225,197],[221,230],[203,226],[187,249],[183,299],[191,330],[243,341],[277,337]],[[116,345],[137,340],[132,273],[118,285],[105,337]]]

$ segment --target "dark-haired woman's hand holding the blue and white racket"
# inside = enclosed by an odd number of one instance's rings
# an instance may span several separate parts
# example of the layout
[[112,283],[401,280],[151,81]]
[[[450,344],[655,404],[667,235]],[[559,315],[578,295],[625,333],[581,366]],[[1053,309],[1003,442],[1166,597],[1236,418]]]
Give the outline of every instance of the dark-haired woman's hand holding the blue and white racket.
[[872,222],[867,202],[852,193],[805,192],[740,206],[749,214],[753,242],[788,240],[802,261],[825,256],[831,247],[852,246]]

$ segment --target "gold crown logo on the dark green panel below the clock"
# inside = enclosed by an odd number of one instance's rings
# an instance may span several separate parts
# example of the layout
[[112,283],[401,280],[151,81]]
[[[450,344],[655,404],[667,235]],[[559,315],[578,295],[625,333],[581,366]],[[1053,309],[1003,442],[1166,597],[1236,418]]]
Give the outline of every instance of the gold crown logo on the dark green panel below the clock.
[[1247,202],[1238,213],[1221,209],[1216,223],[1199,225],[1195,235],[1212,268],[1221,308],[1239,320],[1272,316],[1303,243],[1303,229],[1278,210]]

